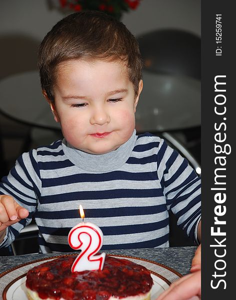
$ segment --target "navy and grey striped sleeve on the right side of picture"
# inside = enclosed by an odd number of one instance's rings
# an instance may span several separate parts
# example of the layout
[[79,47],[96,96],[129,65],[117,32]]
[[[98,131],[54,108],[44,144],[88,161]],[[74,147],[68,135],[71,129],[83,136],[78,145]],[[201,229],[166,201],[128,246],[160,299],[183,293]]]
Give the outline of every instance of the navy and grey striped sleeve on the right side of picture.
[[177,225],[198,243],[196,226],[201,213],[200,177],[176,150],[161,140],[157,153],[157,174],[166,197],[167,209]]

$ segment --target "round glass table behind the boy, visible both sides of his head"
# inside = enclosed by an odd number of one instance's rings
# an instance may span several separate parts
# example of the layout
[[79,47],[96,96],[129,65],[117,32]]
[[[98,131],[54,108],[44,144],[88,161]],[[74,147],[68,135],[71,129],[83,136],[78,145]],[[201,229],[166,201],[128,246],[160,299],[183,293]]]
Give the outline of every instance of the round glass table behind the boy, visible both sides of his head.
[[[38,72],[27,71],[0,81],[0,111],[21,122],[59,129],[44,99]],[[136,111],[138,132],[179,130],[200,125],[200,81],[143,71]]]

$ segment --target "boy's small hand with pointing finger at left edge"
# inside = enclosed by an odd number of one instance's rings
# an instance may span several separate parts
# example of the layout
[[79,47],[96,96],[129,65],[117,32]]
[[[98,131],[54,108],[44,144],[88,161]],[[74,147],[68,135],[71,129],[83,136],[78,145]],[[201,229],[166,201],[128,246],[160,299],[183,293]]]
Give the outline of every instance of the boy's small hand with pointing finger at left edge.
[[0,231],[28,216],[28,210],[21,207],[8,195],[0,195]]

